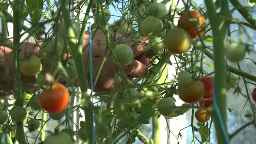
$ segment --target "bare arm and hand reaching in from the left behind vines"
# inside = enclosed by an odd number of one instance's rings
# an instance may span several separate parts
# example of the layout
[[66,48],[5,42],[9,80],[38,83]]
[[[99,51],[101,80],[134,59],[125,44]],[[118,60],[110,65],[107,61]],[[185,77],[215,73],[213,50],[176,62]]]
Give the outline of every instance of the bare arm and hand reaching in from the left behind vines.
[[[92,30],[92,35],[95,33],[94,30]],[[120,33],[109,32],[112,37],[115,38],[115,42],[112,43],[112,48],[114,48],[115,45],[118,44],[127,44],[131,46],[131,49],[134,52],[134,55],[138,54],[139,52],[143,52],[146,47],[142,43],[148,43],[147,37],[143,37],[141,39],[140,44],[135,46],[135,43],[131,41],[131,39],[126,39],[124,36],[122,36]],[[101,42],[101,45],[97,45],[98,42]],[[39,45],[41,45],[43,42],[37,42]],[[106,50],[106,37],[105,34],[98,30],[95,34],[95,37],[92,41],[92,61],[93,61],[93,75],[94,79],[97,75],[102,59],[105,54]],[[83,61],[86,65],[89,58],[89,33],[85,33],[84,39],[83,39]],[[38,53],[39,47],[35,46],[35,41],[30,42],[24,42],[20,45],[20,59],[25,58],[25,52],[26,53]],[[114,88],[118,87],[118,84],[115,84],[115,76],[120,75],[120,69],[118,68],[118,65],[115,64],[115,62],[112,59],[112,56],[110,55],[110,49],[107,49],[106,59],[107,61],[104,63],[102,70],[100,72],[100,75],[98,77],[98,81],[95,85],[95,92],[103,92],[103,91],[111,91]],[[95,56],[97,55],[97,56]],[[64,54],[64,59],[67,56],[71,56],[72,54]],[[144,53],[141,54],[131,62],[131,64],[122,66],[122,69],[125,72],[125,75],[128,75],[128,77],[145,77],[148,75],[148,67],[149,64],[149,57],[151,54]],[[1,69],[1,67],[3,69]],[[7,92],[11,91],[13,89],[13,53],[12,49],[0,46],[0,77],[3,78],[0,81],[0,98],[6,96],[5,92],[1,90],[6,90]],[[25,88],[28,88],[28,85],[33,85],[35,83],[35,77],[34,76],[26,76],[21,73],[21,79],[23,86]],[[88,75],[88,80],[90,79]],[[75,80],[77,82],[77,80]],[[89,83],[88,83],[89,84]],[[91,86],[89,85],[89,88]]]

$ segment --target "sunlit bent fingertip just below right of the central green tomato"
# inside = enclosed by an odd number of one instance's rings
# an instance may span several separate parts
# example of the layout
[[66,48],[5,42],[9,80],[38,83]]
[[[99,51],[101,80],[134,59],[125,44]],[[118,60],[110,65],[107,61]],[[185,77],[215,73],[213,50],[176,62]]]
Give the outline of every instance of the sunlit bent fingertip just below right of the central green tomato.
[[142,62],[133,60],[131,65],[125,68],[125,73],[137,78],[143,78],[148,75],[148,67]]

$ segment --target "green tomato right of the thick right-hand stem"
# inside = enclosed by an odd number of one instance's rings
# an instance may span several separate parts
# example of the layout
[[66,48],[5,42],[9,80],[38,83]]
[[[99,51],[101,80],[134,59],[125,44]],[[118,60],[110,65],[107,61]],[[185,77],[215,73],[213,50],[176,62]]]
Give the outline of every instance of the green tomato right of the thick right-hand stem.
[[231,43],[227,47],[227,59],[230,62],[239,62],[245,56],[246,48],[241,43]]

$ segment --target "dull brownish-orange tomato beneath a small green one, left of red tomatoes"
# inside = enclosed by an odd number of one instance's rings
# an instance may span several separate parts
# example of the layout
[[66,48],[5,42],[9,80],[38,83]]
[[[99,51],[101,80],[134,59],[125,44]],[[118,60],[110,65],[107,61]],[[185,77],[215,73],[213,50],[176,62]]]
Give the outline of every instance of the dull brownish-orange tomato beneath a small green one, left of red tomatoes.
[[199,80],[193,80],[189,85],[178,85],[178,95],[186,103],[195,103],[205,94],[204,85]]

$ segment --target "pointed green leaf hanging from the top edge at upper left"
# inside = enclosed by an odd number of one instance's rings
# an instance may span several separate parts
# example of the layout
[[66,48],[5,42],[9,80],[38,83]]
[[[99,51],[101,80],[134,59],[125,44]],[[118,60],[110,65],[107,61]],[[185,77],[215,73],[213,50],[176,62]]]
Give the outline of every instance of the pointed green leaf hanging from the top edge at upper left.
[[33,23],[38,23],[42,16],[43,0],[26,0],[26,5]]

